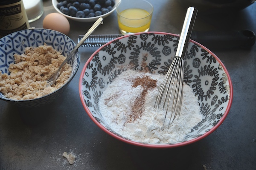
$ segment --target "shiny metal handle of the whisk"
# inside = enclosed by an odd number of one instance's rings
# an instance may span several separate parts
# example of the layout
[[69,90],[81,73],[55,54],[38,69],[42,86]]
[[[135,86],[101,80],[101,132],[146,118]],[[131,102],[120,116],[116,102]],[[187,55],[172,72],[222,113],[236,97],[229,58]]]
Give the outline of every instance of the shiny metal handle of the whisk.
[[187,9],[175,57],[183,58],[186,54],[197,12],[198,10],[194,7],[189,7]]

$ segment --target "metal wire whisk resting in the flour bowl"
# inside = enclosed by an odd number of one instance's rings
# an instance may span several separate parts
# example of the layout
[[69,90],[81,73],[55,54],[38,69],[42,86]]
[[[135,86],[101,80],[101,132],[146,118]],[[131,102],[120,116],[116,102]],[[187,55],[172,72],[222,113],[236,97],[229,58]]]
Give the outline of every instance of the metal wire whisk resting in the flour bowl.
[[[157,96],[154,108],[159,108],[162,98],[164,96],[163,109],[166,108],[165,119],[163,123],[163,128],[167,118],[167,113],[169,119],[168,128],[177,115],[180,114],[183,96],[183,74],[184,74],[184,56],[187,51],[189,44],[191,32],[195,23],[195,18],[197,14],[197,9],[189,7],[186,12],[186,17],[184,20],[183,28],[180,34],[180,39],[177,46],[177,51],[172,64],[163,80],[163,83],[159,90],[159,95]],[[167,87],[168,86],[168,87]],[[164,95],[165,94],[165,95]],[[167,102],[167,98],[169,98]],[[172,110],[168,112],[169,105],[172,102]],[[167,106],[166,106],[167,102]],[[166,106],[166,107],[165,107]]]

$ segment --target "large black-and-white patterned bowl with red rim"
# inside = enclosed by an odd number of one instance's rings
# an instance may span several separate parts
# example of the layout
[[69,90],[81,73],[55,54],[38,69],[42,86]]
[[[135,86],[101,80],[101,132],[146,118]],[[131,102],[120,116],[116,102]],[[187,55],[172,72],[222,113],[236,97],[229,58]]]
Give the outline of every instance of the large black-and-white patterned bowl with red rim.
[[103,45],[90,57],[81,72],[79,93],[85,111],[96,125],[123,142],[150,148],[190,144],[208,136],[221,125],[232,104],[232,82],[221,60],[193,40],[189,42],[184,60],[184,81],[198,98],[203,120],[182,141],[168,144],[136,142],[115,133],[102,118],[99,98],[122,70],[111,71],[118,65],[133,64],[137,69],[146,65],[152,73],[164,74],[172,63],[178,39],[178,35],[163,32],[126,35]]

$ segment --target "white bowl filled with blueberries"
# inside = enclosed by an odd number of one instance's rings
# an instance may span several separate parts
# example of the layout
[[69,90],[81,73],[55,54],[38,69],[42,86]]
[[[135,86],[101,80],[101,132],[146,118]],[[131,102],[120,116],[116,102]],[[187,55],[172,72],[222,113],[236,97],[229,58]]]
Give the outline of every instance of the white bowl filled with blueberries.
[[94,22],[108,17],[120,0],[52,0],[58,13],[79,22]]

